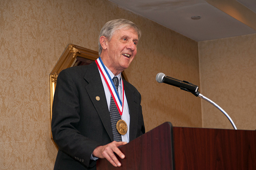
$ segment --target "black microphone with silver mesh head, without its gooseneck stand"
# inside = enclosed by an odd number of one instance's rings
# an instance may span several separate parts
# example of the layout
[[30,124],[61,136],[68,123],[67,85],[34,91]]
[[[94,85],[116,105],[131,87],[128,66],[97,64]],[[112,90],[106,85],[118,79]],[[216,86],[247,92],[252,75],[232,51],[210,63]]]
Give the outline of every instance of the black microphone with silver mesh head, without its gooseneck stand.
[[180,89],[185,90],[187,92],[198,92],[198,86],[195,86],[194,84],[191,84],[188,81],[180,81],[175,78],[168,77],[162,72],[157,74],[156,81],[158,83],[166,83],[175,87],[180,87]]

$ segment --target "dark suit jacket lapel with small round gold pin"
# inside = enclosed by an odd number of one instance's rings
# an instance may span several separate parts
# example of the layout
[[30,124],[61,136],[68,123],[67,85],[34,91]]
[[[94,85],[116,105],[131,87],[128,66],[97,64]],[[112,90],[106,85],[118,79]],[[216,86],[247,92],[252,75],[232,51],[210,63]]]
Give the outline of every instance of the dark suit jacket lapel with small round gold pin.
[[99,75],[99,70],[95,62],[91,63],[89,67],[91,68],[87,69],[87,72],[84,75],[84,80],[88,82],[88,84],[85,86],[85,89],[87,90],[87,93],[96,111],[99,114],[105,130],[111,138],[111,141],[113,141],[113,132],[111,127],[108,104],[106,101],[104,87],[102,85],[102,81]]

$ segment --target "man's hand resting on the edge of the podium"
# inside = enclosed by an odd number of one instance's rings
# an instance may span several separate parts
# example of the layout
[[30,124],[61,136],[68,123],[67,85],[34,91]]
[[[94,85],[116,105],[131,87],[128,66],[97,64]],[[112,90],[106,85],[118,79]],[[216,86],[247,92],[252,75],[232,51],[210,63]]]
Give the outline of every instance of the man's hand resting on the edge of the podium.
[[116,153],[120,158],[125,158],[125,155],[118,149],[118,147],[127,144],[127,142],[113,141],[104,146],[98,146],[93,150],[93,156],[98,158],[106,158],[113,166],[120,167],[121,163],[116,158]]

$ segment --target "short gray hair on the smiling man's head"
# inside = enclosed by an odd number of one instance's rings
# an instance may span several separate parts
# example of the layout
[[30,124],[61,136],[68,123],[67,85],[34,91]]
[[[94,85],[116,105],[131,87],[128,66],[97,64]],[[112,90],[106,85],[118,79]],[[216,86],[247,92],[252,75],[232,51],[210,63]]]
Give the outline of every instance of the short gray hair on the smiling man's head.
[[[110,41],[112,36],[114,35],[114,33],[119,30],[119,29],[123,29],[123,28],[133,28],[137,34],[138,37],[140,39],[141,36],[141,32],[139,27],[134,24],[133,22],[129,21],[129,20],[125,20],[125,19],[117,19],[117,20],[111,20],[108,21],[101,29],[100,33],[99,33],[99,38],[101,36],[107,37],[107,39]],[[102,53],[102,46],[100,44],[100,42],[98,42],[99,45],[99,55],[101,55]]]

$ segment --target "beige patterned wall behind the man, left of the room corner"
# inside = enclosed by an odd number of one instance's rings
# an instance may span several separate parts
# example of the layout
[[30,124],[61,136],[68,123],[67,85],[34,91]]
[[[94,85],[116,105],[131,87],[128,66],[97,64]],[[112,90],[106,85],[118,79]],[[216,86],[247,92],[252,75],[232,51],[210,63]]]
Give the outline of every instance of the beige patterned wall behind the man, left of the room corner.
[[199,84],[198,43],[108,0],[0,1],[0,169],[50,170],[49,73],[69,43],[97,50],[108,20],[137,23],[143,36],[126,70],[142,94],[146,130],[165,121],[201,127],[201,100],[167,84],[158,72]]

